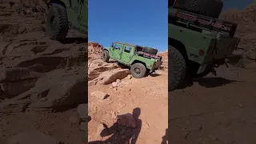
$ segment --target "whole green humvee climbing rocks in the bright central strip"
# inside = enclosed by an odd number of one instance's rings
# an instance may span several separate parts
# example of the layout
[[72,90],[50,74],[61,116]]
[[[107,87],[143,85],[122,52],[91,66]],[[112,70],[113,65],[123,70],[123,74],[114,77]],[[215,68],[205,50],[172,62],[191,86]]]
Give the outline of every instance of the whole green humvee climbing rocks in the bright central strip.
[[103,48],[102,60],[109,62],[112,58],[125,66],[130,66],[132,76],[142,78],[158,70],[162,65],[162,57],[157,56],[157,53],[158,50],[151,47],[112,42],[110,47]]

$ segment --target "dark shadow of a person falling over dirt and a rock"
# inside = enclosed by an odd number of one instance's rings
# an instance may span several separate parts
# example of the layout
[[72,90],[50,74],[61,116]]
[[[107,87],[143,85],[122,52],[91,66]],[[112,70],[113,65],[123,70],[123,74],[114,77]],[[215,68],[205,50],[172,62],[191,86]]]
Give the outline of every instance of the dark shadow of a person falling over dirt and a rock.
[[110,138],[107,138],[105,141],[94,141],[89,142],[89,144],[135,144],[138,138],[138,134],[142,129],[142,120],[139,119],[141,114],[140,108],[135,108],[133,114],[122,114],[118,115],[117,122],[113,126],[106,126],[101,131],[101,137],[106,137],[112,134]]

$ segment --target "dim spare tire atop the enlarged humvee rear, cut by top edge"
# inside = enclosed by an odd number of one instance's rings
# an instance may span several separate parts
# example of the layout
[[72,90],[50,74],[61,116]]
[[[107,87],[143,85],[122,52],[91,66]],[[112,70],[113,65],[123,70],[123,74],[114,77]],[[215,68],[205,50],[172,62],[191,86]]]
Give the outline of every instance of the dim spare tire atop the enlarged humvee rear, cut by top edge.
[[222,0],[176,0],[174,7],[180,10],[202,14],[211,18],[218,18],[222,12]]

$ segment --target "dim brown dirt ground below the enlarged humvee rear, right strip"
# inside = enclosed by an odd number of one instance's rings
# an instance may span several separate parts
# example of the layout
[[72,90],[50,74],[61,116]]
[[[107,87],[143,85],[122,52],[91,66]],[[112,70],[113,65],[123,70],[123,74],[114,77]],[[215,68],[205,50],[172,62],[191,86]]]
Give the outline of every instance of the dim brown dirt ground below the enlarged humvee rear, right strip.
[[218,74],[170,93],[170,142],[256,142],[256,65],[221,67]]

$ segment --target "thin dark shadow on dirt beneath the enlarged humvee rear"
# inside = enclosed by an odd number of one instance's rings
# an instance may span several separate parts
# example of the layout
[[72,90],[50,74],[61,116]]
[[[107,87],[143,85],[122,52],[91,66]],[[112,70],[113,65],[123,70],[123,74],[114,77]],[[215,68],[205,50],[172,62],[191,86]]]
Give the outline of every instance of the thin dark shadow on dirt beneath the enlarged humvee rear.
[[186,80],[183,86],[178,87],[178,89],[185,89],[186,87],[190,87],[194,85],[194,82],[198,82],[198,85],[204,86],[206,88],[214,88],[219,86],[225,86],[227,84],[233,82],[242,82],[242,81],[235,81],[221,77],[205,77],[205,78],[193,78]]

